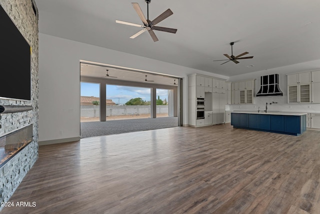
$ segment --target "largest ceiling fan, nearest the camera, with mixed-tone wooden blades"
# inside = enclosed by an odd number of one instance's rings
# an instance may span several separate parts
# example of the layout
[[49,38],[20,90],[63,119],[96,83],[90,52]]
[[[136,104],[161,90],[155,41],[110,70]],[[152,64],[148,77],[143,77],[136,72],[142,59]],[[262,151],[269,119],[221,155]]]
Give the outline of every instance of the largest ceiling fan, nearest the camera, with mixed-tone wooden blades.
[[136,34],[132,35],[130,37],[130,39],[134,39],[137,36],[139,36],[140,34],[142,34],[145,31],[148,31],[153,42],[159,41],[158,38],[155,36],[153,30],[156,31],[164,31],[164,32],[168,32],[168,33],[172,33],[175,34],[177,29],[172,29],[172,28],[164,28],[164,27],[158,27],[155,26],[156,24],[158,24],[159,22],[163,21],[164,19],[168,18],[169,16],[171,16],[173,13],[170,9],[166,10],[165,12],[163,12],[161,15],[159,15],[157,18],[155,18],[153,21],[149,20],[149,4],[151,2],[151,0],[145,0],[146,5],[147,5],[147,19],[145,19],[141,8],[139,6],[139,4],[137,3],[131,3],[135,12],[138,14],[138,16],[140,17],[143,25],[138,25],[138,24],[134,24],[134,23],[129,23],[129,22],[123,22],[123,21],[119,21],[119,20],[115,20],[116,23],[119,24],[123,24],[123,25],[130,25],[130,26],[135,26],[135,27],[141,27],[143,28],[141,31],[137,32]]

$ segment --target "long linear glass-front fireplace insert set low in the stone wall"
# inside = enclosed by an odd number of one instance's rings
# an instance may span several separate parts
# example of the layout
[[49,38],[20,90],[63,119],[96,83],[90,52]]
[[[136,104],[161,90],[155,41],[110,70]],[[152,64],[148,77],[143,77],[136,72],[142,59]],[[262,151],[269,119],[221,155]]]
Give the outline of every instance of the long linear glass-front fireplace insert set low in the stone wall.
[[0,137],[0,167],[32,141],[32,124]]

